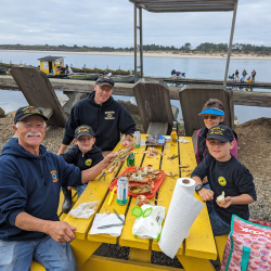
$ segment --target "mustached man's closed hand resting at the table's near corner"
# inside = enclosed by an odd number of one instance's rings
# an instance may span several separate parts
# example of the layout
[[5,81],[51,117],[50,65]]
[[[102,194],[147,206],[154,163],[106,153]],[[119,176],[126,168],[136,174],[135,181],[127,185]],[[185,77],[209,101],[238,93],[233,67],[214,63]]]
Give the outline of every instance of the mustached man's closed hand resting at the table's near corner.
[[52,221],[48,228],[48,234],[59,243],[67,243],[75,240],[76,228],[64,221]]

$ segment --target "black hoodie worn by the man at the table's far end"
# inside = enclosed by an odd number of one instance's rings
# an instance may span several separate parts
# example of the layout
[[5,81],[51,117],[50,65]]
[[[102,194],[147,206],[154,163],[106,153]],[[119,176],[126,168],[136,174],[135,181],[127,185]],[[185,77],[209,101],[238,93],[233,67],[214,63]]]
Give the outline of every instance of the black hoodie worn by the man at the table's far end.
[[112,151],[119,142],[120,132],[132,134],[136,122],[125,107],[111,96],[105,103],[94,102],[95,91],[79,101],[70,111],[62,143],[69,145],[75,129],[80,125],[90,126],[95,132],[95,144],[102,151]]

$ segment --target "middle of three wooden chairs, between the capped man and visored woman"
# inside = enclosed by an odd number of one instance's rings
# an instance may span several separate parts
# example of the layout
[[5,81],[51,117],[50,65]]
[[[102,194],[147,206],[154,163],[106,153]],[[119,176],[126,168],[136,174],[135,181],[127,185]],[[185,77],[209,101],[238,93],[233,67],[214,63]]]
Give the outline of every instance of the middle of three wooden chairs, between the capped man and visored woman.
[[179,109],[170,104],[169,89],[163,80],[143,78],[133,93],[145,133],[170,134]]

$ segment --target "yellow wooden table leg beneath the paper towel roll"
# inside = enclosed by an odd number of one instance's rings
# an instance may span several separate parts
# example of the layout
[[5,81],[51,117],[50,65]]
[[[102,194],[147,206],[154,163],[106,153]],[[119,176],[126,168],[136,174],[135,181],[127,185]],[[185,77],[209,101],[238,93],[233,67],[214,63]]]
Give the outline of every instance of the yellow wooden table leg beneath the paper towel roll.
[[185,255],[177,255],[178,260],[181,262],[185,271],[215,271],[216,269],[207,259],[189,257]]

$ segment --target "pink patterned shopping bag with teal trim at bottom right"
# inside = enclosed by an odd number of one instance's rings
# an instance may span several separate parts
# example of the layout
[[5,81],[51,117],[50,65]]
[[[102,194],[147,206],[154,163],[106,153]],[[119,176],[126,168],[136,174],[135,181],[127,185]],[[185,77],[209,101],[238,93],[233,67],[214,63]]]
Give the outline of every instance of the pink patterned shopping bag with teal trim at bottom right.
[[271,228],[232,217],[222,271],[271,270]]

